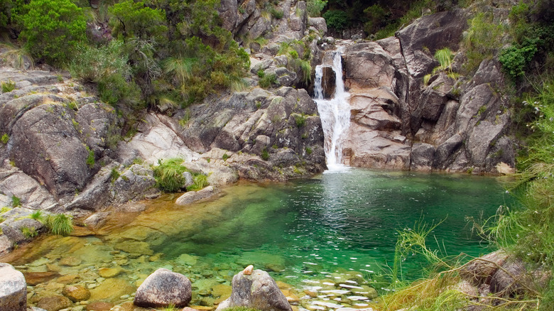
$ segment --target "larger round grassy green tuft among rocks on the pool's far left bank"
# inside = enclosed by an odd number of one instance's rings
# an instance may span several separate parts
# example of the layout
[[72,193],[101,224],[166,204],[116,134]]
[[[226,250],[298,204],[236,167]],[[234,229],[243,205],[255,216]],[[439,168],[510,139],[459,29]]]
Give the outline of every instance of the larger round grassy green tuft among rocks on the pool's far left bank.
[[154,168],[154,178],[157,187],[165,192],[178,192],[185,185],[183,173],[187,171],[182,158],[158,160],[158,166]]

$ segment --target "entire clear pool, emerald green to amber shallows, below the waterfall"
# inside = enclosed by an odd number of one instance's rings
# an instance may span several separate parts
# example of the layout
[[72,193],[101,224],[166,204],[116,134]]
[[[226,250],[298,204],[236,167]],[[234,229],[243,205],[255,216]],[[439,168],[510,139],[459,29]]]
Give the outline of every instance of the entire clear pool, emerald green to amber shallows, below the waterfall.
[[[479,256],[489,250],[465,217],[489,217],[511,201],[496,178],[354,168],[287,183],[242,183],[185,207],[174,199],[112,215],[94,234],[48,236],[16,251],[10,261],[20,270],[55,273],[30,288],[30,302],[80,283],[90,289],[89,301],[121,304],[163,267],[187,275],[192,303],[211,307],[229,294],[232,275],[254,264],[293,285],[290,299],[308,309],[363,308],[369,280],[392,266],[397,230],[443,220],[432,233],[441,247]],[[417,278],[423,265],[408,258],[403,273]],[[313,297],[300,299],[303,288]]]

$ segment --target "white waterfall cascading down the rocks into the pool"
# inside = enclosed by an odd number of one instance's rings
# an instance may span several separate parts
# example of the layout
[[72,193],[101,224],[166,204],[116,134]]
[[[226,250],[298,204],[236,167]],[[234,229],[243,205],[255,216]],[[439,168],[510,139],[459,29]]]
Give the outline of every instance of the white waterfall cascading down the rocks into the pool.
[[[333,52],[332,65],[317,65],[315,67],[315,102],[320,113],[323,134],[325,136],[325,158],[329,170],[342,170],[342,135],[350,125],[350,94],[344,91],[342,81],[341,50]],[[323,68],[331,67],[335,72],[335,94],[331,99],[323,98],[322,76]]]

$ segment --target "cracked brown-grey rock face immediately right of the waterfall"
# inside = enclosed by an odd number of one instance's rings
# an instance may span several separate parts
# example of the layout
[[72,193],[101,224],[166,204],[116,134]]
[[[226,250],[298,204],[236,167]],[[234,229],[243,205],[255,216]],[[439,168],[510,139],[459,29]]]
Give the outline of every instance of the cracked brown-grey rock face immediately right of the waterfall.
[[495,91],[504,85],[499,63],[484,60],[472,78],[432,74],[435,51],[457,50],[466,28],[464,11],[442,12],[419,18],[397,38],[344,48],[352,107],[345,164],[472,173],[514,168],[509,102]]

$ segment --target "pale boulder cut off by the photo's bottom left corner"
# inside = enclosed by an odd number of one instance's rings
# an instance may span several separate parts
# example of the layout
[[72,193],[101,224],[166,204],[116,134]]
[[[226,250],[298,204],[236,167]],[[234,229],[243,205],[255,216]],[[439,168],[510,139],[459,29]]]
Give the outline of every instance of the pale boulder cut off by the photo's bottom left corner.
[[23,273],[8,263],[0,263],[0,310],[25,311],[27,286]]

